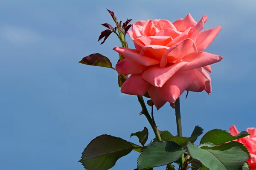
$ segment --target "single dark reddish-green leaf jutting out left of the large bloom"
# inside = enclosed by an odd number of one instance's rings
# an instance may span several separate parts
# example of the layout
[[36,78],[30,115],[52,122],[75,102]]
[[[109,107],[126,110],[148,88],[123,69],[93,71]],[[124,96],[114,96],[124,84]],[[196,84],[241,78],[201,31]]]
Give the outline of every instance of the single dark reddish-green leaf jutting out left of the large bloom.
[[112,63],[108,59],[108,57],[103,56],[102,54],[96,53],[96,54],[90,54],[89,56],[84,57],[81,61],[79,61],[82,64],[85,65],[94,65],[99,67],[107,67],[112,68]]

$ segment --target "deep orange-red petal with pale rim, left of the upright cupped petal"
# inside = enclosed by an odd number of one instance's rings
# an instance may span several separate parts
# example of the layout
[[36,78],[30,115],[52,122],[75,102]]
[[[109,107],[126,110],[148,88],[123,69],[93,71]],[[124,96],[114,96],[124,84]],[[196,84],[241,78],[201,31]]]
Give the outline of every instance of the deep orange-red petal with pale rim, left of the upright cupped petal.
[[168,49],[163,45],[147,45],[141,49],[140,54],[160,61]]

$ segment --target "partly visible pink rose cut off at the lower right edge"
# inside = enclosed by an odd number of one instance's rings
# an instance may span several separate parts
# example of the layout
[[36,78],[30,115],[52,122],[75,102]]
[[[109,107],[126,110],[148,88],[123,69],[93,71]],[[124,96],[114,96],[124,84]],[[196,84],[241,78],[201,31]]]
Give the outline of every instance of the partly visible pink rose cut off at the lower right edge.
[[[231,135],[235,136],[239,134],[235,125],[230,127]],[[246,130],[250,135],[241,139],[237,139],[237,142],[244,144],[245,147],[250,152],[251,159],[248,159],[247,162],[250,165],[251,170],[256,170],[256,128],[250,127]]]

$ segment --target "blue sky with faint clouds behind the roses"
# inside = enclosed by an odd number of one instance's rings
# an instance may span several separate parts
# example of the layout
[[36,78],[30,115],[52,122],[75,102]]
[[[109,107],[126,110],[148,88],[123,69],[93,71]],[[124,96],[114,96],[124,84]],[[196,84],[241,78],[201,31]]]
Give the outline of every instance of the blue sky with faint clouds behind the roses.
[[[113,35],[100,45],[100,23],[166,19],[191,13],[208,16],[205,28],[222,26],[207,52],[223,56],[212,65],[212,94],[181,96],[183,135],[200,125],[241,130],[255,124],[255,28],[253,0],[1,0],[0,2],[0,167],[3,170],[82,170],[77,162],[101,134],[137,142],[130,134],[149,129],[136,96],[120,93],[117,74],[78,63],[101,53],[115,65],[120,46]],[[129,41],[130,47],[133,47]],[[160,130],[176,133],[175,110],[155,111]],[[112,170],[133,170],[138,153],[119,159]],[[160,170],[161,168],[155,168]],[[162,167],[163,169],[163,167]]]

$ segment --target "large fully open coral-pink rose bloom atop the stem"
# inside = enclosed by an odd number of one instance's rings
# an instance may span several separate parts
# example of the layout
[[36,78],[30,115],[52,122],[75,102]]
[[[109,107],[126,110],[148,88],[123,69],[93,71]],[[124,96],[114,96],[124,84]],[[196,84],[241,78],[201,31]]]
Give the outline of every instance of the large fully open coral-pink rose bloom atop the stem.
[[129,36],[136,49],[115,47],[125,59],[116,64],[119,74],[131,75],[121,92],[148,92],[157,110],[166,102],[173,107],[183,91],[212,92],[210,65],[223,57],[204,51],[221,27],[201,31],[207,16],[197,23],[188,14],[174,23],[168,20],[137,21]]

